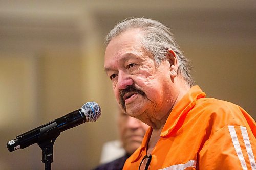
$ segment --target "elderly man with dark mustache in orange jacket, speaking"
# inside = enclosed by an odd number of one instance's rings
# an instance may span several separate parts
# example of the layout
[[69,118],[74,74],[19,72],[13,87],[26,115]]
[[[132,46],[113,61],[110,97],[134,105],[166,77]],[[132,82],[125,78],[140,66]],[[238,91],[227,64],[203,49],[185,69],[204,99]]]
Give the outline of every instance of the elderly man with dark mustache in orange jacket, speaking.
[[255,121],[206,98],[169,29],[124,20],[106,37],[104,67],[123,111],[151,126],[123,169],[255,169]]

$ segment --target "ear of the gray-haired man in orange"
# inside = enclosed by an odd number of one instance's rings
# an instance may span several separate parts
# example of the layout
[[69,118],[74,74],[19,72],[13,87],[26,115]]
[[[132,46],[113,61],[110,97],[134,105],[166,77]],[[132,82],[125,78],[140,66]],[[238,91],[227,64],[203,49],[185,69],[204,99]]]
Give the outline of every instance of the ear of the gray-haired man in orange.
[[176,53],[172,49],[169,48],[167,52],[166,57],[170,63],[170,77],[175,78],[178,74],[179,61]]

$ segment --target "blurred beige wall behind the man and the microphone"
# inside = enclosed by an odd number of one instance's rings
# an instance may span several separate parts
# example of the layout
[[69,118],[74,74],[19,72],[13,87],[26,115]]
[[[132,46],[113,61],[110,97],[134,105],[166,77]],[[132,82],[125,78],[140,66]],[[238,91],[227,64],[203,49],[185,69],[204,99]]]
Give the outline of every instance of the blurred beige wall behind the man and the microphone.
[[103,39],[126,17],[153,18],[173,28],[207,96],[239,104],[256,117],[253,1],[64,2],[0,7],[0,169],[44,168],[38,145],[10,153],[6,142],[88,101],[101,106],[101,117],[60,134],[52,169],[97,165],[102,144],[118,138]]

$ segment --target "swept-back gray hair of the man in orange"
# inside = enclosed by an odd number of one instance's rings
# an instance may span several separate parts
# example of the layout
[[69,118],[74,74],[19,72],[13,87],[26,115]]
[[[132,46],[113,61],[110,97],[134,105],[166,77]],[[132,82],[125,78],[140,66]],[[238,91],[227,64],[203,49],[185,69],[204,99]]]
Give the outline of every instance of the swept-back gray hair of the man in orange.
[[190,75],[192,69],[190,61],[181,52],[170,29],[158,21],[146,18],[125,19],[118,23],[106,36],[105,44],[108,45],[113,38],[122,32],[137,28],[144,33],[141,43],[154,56],[157,66],[166,60],[168,49],[172,49],[179,60],[178,75],[180,74],[188,85],[192,86],[194,81]]

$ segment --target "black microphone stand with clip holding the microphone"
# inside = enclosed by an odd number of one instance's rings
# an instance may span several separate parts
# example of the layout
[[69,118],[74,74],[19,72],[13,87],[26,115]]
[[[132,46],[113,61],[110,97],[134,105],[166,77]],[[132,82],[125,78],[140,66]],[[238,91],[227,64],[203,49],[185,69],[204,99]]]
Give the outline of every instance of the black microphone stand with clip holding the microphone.
[[42,150],[42,162],[45,163],[45,170],[51,170],[51,163],[53,162],[53,144],[59,134],[59,128],[55,121],[41,126],[37,144]]

